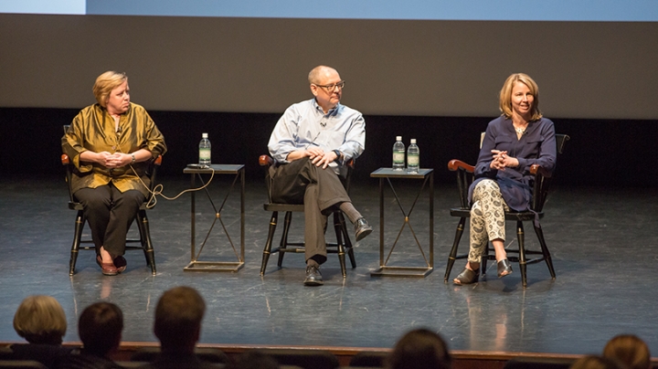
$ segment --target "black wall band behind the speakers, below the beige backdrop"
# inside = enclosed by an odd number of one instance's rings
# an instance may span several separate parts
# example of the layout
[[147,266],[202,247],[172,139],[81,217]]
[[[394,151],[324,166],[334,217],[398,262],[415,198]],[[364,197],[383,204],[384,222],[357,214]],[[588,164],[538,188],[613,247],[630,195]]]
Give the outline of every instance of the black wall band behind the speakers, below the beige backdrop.
[[[72,109],[0,109],[0,174],[60,174],[63,124]],[[197,160],[202,132],[208,132],[215,163],[243,163],[249,180],[260,180],[258,157],[279,114],[150,111],[164,133],[169,152],[161,174],[181,176],[186,163]],[[366,115],[366,153],[357,161],[356,178],[391,165],[396,135],[416,138],[422,167],[434,168],[437,183],[451,183],[446,164],[453,158],[474,163],[479,134],[489,118],[400,117]],[[554,118],[556,131],[571,140],[558,159],[557,184],[654,186],[658,181],[658,121],[578,120]]]

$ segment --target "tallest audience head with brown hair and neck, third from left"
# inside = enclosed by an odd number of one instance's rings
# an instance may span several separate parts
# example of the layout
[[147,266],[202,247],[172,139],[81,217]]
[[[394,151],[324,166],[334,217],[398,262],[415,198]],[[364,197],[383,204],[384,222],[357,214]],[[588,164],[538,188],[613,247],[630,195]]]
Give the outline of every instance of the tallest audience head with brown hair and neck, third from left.
[[166,290],[155,308],[154,333],[161,353],[144,368],[216,368],[199,360],[194,352],[205,313],[206,302],[195,289],[183,286]]

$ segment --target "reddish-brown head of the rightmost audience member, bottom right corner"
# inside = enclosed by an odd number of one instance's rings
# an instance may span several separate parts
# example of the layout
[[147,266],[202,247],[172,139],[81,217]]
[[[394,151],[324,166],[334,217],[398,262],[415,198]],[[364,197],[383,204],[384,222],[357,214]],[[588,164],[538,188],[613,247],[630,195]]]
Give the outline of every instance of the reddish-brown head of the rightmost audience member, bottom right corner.
[[612,337],[603,349],[603,356],[625,364],[628,369],[649,369],[651,353],[640,337],[633,334],[620,334]]

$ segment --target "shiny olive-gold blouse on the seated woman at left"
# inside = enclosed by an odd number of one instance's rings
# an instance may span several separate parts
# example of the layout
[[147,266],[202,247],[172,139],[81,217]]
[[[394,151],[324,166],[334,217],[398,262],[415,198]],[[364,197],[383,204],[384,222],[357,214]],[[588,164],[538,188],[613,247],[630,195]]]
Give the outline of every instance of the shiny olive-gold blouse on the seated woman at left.
[[[84,108],[73,118],[69,131],[62,137],[62,151],[69,155],[75,166],[71,177],[71,189],[75,194],[80,188],[96,188],[110,182],[119,191],[138,190],[148,196],[150,185],[146,173],[149,162],[133,163],[121,168],[106,168],[100,163],[80,163],[80,153],[134,153],[140,149],[151,152],[153,158],[166,153],[164,137],[154,121],[141,105],[131,102],[128,111],[121,115],[119,131],[107,109],[96,103]],[[137,173],[137,175],[135,174]]]

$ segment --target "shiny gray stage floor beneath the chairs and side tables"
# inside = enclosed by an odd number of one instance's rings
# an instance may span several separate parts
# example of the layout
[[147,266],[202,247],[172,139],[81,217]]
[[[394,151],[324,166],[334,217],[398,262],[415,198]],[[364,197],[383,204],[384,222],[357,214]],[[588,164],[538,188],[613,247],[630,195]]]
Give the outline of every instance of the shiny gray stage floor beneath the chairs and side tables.
[[[182,174],[163,182],[167,195],[188,185]],[[337,258],[330,255],[322,269],[325,285],[308,288],[302,286],[301,254],[288,254],[282,269],[271,258],[260,277],[270,217],[261,207],[266,196],[260,180],[247,186],[246,264],[239,272],[183,270],[190,260],[190,195],[183,195],[175,201],[160,199],[149,211],[156,276],[146,267],[143,254],[131,251],[126,272],[103,277],[93,252],[86,251],[78,258],[77,274],[69,277],[74,212],[67,208],[62,178],[3,178],[0,341],[20,341],[12,319],[23,298],[48,294],[67,312],[65,341],[78,341],[77,315],[86,305],[109,300],[124,311],[124,341],[154,342],[152,320],[158,297],[166,289],[188,285],[207,300],[202,343],[390,347],[403,332],[426,326],[440,332],[453,350],[598,353],[613,335],[631,332],[658,353],[655,189],[555,188],[542,224],[557,279],[550,279],[545,264],[531,265],[528,287],[523,289],[516,264],[515,273],[505,279],[496,279],[490,269],[491,276],[477,285],[444,283],[456,226],[447,211],[457,205],[451,186],[436,187],[434,272],[424,279],[371,278],[369,272],[377,268],[379,258],[378,187],[376,181],[354,185],[353,200],[376,232],[356,245],[357,268],[348,269],[347,279],[342,279]],[[210,192],[221,197],[227,187],[226,178],[218,178]],[[402,186],[398,193],[409,202],[415,190]],[[207,229],[213,212],[203,197],[197,199],[198,227]],[[239,244],[237,199],[231,197],[221,219]],[[401,226],[391,199],[388,196],[386,202],[391,216],[386,223],[388,245]],[[422,197],[412,215],[423,245],[429,239],[428,208]],[[296,219],[300,225],[301,218]],[[215,235],[216,231],[201,258],[235,259],[226,237]],[[204,236],[200,231],[197,239]],[[536,246],[532,227],[526,227],[526,240]],[[464,241],[462,250],[467,248]],[[513,241],[514,228],[508,227],[508,243]],[[422,265],[413,242],[405,232],[390,263]],[[452,276],[462,266],[458,260]]]

